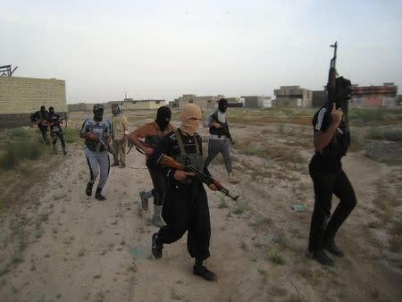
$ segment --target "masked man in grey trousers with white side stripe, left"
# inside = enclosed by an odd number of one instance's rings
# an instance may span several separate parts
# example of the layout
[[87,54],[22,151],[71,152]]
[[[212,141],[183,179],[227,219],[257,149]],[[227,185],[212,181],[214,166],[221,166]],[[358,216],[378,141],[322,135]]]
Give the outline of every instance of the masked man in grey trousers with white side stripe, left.
[[104,106],[94,105],[94,117],[82,124],[80,138],[85,138],[84,154],[87,157],[90,179],[87,184],[86,193],[92,195],[97,175],[100,174],[95,197],[98,200],[105,200],[102,189],[109,176],[109,143],[111,137],[111,123],[104,119]]

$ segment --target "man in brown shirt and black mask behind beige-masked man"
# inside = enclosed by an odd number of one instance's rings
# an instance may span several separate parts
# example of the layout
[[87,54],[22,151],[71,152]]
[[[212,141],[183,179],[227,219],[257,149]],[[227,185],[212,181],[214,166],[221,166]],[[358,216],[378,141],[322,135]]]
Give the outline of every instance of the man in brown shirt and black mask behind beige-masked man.
[[[156,113],[155,122],[149,122],[142,127],[130,133],[130,141],[140,148],[147,156],[154,152],[156,145],[162,140],[163,136],[172,132],[171,124],[172,113],[167,106],[159,107]],[[143,142],[140,138],[144,138]],[[149,175],[151,176],[154,189],[141,190],[139,197],[141,198],[141,206],[144,210],[148,209],[148,198],[154,197],[154,215],[152,222],[157,227],[162,227],[165,223],[162,220],[162,206],[164,196],[166,194],[166,178],[163,173],[148,167]]]

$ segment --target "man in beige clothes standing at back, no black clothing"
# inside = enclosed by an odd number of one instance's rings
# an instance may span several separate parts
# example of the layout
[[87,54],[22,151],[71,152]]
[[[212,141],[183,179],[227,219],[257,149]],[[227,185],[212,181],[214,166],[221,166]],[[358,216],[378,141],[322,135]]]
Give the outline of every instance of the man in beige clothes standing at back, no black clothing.
[[[126,141],[129,134],[129,126],[126,116],[121,113],[118,104],[112,105],[112,146],[113,146],[113,164],[124,168],[126,166]],[[120,158],[120,161],[119,161]]]

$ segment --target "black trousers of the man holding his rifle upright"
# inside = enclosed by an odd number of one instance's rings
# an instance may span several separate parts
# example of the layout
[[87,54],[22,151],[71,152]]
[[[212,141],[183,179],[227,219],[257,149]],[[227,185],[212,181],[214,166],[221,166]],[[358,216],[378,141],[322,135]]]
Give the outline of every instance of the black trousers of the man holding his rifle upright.
[[[355,190],[346,173],[321,172],[314,170],[310,163],[310,176],[314,183],[314,211],[311,218],[308,250],[322,249],[323,244],[335,239],[339,227],[355,208]],[[339,198],[339,205],[331,215],[332,194]]]

